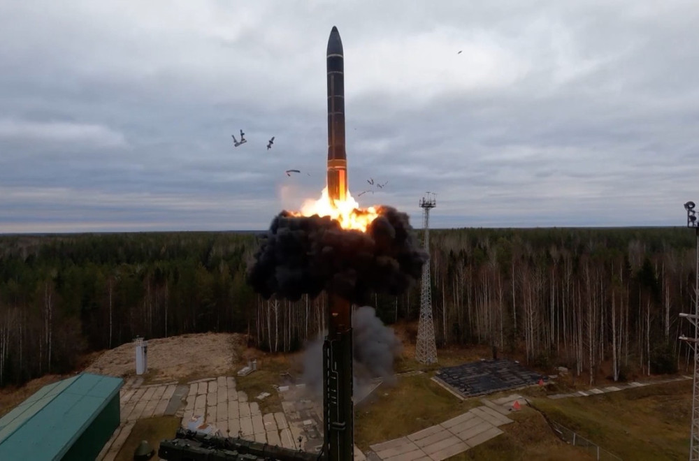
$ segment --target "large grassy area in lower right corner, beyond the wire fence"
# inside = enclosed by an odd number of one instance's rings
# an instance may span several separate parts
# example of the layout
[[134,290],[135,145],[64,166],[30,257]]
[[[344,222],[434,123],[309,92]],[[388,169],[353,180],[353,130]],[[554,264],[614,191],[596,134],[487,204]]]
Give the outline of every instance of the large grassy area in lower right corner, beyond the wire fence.
[[549,418],[625,460],[686,459],[692,382],[560,400],[534,399]]

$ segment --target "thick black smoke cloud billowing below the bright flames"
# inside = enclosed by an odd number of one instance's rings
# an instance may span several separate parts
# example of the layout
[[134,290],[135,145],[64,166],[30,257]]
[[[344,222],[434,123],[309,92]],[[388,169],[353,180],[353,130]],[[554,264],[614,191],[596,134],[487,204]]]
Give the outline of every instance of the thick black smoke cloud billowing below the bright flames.
[[428,254],[417,246],[408,215],[378,208],[366,233],[340,228],[329,217],[272,221],[249,265],[247,281],[257,293],[296,301],[332,291],[356,304],[371,293],[399,295],[421,275]]

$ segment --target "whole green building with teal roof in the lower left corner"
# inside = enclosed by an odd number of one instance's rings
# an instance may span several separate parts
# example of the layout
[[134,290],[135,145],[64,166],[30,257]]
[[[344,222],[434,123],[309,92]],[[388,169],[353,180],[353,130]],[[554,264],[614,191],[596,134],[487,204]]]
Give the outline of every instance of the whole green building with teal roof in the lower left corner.
[[94,460],[119,426],[123,384],[82,373],[44,386],[0,419],[0,460]]

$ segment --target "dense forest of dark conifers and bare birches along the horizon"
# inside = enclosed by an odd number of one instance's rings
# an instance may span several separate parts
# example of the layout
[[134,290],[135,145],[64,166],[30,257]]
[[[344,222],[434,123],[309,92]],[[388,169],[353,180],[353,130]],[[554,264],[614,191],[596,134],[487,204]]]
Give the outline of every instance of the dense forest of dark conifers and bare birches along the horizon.
[[[686,364],[687,228],[467,228],[430,241],[438,346],[518,351],[591,381],[603,363],[619,380]],[[245,332],[264,350],[299,349],[324,327],[324,296],[261,299],[245,283],[256,249],[235,232],[0,236],[0,386],[137,335]],[[385,323],[417,320],[419,284],[374,301]]]

